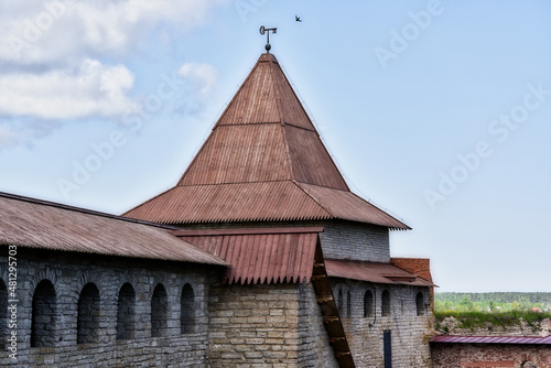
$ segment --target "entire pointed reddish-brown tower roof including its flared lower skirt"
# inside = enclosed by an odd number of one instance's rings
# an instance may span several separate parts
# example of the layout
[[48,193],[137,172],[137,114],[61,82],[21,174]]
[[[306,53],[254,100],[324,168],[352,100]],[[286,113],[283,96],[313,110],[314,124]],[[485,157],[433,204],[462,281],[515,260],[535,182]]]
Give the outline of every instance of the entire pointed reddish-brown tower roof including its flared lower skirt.
[[349,191],[269,53],[259,57],[176,186],[125,216],[162,224],[341,218],[409,228]]

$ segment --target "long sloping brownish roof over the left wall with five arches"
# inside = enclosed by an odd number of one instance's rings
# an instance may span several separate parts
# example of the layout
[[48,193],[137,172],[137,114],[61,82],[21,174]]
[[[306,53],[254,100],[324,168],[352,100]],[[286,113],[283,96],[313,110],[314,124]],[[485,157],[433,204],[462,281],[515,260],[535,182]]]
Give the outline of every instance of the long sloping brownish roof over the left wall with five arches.
[[223,264],[171,228],[0,193],[0,245]]

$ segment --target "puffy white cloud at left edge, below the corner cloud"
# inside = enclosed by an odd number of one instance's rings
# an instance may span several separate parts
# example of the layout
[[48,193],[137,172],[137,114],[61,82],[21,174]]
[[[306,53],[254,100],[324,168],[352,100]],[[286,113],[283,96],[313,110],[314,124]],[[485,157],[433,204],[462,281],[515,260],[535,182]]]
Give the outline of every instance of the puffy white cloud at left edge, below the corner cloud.
[[112,117],[133,111],[133,75],[123,65],[85,59],[73,71],[0,75],[0,115],[45,119]]

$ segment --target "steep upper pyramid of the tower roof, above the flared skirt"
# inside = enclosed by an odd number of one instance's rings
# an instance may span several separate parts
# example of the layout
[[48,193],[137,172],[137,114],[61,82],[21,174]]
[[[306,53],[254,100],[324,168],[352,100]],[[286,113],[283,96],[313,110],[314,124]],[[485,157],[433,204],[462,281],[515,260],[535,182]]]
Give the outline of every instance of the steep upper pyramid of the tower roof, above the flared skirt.
[[291,178],[348,190],[276,56],[262,54],[177,185]]

